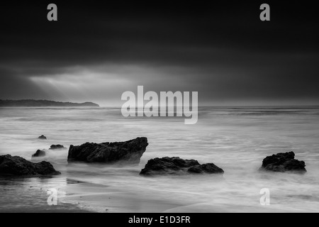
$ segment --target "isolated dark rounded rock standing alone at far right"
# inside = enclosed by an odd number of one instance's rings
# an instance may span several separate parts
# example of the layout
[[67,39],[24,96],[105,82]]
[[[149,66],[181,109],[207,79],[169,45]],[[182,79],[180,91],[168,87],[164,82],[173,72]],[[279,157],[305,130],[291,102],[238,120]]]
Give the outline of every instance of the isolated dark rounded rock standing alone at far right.
[[274,172],[307,172],[305,162],[295,159],[295,153],[278,153],[267,156],[262,161],[262,167],[259,170]]

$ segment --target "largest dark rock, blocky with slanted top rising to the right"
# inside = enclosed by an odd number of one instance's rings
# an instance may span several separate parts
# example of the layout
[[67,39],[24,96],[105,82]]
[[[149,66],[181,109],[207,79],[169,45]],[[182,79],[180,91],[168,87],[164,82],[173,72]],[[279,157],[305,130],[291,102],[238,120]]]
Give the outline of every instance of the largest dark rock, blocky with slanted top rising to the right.
[[67,161],[138,164],[147,145],[147,138],[145,137],[138,137],[125,142],[70,145]]

